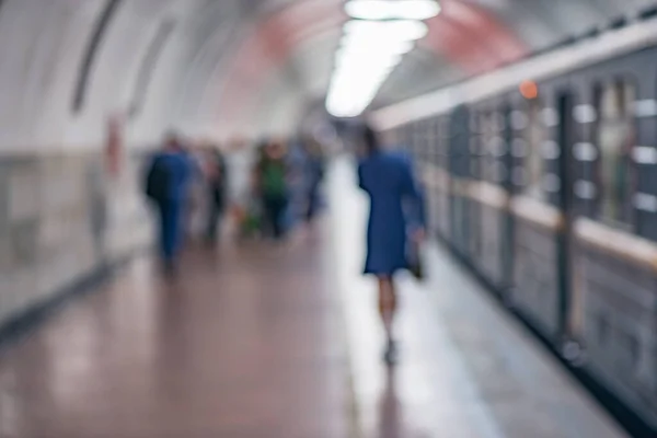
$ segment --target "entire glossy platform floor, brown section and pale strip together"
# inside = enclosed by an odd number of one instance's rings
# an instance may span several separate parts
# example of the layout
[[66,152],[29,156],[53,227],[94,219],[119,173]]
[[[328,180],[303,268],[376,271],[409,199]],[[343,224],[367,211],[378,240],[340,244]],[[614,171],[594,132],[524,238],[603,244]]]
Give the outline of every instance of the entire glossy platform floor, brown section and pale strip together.
[[624,436],[439,247],[388,371],[346,163],[327,193],[283,246],[191,251],[175,281],[136,260],[0,347],[0,438]]

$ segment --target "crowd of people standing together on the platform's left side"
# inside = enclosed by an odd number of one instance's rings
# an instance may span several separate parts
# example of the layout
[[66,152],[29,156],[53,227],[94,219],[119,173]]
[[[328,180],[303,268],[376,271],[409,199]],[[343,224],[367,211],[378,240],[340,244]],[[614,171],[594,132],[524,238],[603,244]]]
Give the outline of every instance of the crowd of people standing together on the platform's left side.
[[[302,159],[291,160],[292,150]],[[285,237],[295,219],[313,220],[323,173],[322,148],[313,139],[296,145],[270,140],[231,150],[194,147],[169,134],[148,161],[145,177],[146,195],[159,215],[165,269],[175,267],[192,221],[200,221],[203,238],[214,247],[228,212],[239,237],[275,240]]]

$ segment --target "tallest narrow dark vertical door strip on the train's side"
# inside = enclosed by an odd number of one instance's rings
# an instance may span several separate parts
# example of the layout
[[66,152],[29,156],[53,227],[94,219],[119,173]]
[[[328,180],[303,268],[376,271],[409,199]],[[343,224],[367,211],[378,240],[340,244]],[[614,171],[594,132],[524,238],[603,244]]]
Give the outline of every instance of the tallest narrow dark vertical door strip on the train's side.
[[557,206],[563,215],[561,232],[557,234],[557,273],[558,273],[558,318],[560,327],[567,326],[567,314],[570,306],[570,284],[573,278],[573,221],[574,210],[574,162],[572,146],[574,143],[573,129],[574,96],[569,91],[564,91],[557,96],[558,130],[557,140],[561,154],[557,171],[561,180]]

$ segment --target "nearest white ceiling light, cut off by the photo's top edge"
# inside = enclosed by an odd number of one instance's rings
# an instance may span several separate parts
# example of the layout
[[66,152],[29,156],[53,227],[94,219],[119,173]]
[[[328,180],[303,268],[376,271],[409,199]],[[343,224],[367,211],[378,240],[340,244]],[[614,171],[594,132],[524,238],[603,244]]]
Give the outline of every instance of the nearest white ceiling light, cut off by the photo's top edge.
[[345,12],[359,20],[428,20],[440,13],[435,0],[351,0]]

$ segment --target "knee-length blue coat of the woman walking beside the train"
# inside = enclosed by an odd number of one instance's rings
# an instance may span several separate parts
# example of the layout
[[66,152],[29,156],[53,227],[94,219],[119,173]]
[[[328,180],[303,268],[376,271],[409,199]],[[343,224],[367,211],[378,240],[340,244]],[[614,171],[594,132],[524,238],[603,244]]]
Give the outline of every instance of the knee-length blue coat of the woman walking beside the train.
[[365,273],[392,276],[408,267],[410,226],[424,226],[424,201],[411,161],[396,152],[374,153],[359,163],[358,180],[370,198]]

